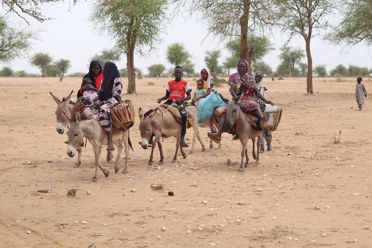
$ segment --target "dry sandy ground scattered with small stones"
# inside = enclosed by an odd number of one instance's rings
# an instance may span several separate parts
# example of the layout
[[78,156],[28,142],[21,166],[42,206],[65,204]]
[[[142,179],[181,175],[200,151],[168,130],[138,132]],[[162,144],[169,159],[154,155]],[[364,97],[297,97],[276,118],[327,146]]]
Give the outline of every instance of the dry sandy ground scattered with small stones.
[[[164,165],[148,166],[150,150],[138,145],[136,117],[128,174],[115,175],[102,152],[110,175],[100,173],[97,183],[90,144],[80,168],[72,168],[77,158],[67,156],[67,135],[55,130],[57,105],[49,95],[76,92],[80,80],[0,78],[0,247],[372,247],[371,98],[358,111],[355,79],[315,78],[315,96],[304,95],[304,78],[265,79],[267,99],[283,108],[282,121],[273,151],[260,155],[260,165],[249,152],[242,173],[240,142],[224,134],[222,150],[209,149],[206,128],[206,152],[197,144],[194,154],[172,164],[175,139],[164,139]],[[138,94],[123,99],[138,111],[163,96],[168,80],[137,80]],[[226,85],[218,91],[228,96]],[[158,149],[154,154],[158,161]],[[38,192],[43,188],[49,193]],[[66,196],[71,188],[78,189],[75,197]]]

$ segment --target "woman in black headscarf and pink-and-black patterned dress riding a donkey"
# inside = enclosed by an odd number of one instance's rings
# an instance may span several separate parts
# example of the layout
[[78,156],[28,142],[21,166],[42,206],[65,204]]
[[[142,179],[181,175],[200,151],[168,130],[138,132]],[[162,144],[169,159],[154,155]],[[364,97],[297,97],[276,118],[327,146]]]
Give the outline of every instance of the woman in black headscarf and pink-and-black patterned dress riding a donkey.
[[[111,115],[110,107],[121,101],[121,91],[123,85],[121,83],[118,67],[113,62],[106,62],[103,67],[103,80],[101,89],[97,92],[99,95],[99,102],[88,105],[84,110],[87,117],[92,116],[97,119],[102,129],[107,133],[108,151],[115,150],[111,137]],[[97,111],[98,110],[98,111]]]

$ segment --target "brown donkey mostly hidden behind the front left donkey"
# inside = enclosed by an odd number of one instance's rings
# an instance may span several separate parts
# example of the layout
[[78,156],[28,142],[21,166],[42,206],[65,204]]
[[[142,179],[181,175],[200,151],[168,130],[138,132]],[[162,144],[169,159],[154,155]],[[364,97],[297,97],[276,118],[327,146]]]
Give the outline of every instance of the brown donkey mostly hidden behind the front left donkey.
[[[67,126],[67,120],[63,113],[66,114],[66,116],[70,117],[71,110],[74,107],[75,101],[71,99],[71,93],[67,97],[63,97],[62,101],[60,101],[56,96],[54,96],[50,91],[49,93],[52,95],[55,103],[57,103],[57,109],[55,110],[55,115],[57,116],[57,132],[60,134],[63,134],[65,131],[65,126]],[[73,168],[79,168],[81,164],[81,147],[77,149],[78,156],[77,156],[77,162],[73,165]],[[107,151],[107,161],[112,161],[113,154],[112,151]]]

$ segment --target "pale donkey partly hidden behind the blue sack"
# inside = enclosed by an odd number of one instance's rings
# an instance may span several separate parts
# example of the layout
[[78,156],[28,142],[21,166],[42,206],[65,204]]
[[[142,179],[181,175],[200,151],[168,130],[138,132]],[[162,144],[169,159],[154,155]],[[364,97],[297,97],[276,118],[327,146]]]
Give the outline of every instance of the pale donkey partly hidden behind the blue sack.
[[[206,127],[209,127],[209,125],[206,122],[198,123],[198,120],[199,120],[198,108],[194,104],[191,104],[191,103],[187,104],[186,110],[187,110],[187,119],[191,123],[192,128],[194,129],[194,135],[192,137],[192,146],[189,151],[189,154],[193,154],[194,152],[194,145],[196,142],[196,138],[198,138],[200,144],[202,145],[202,152],[205,152],[206,149],[204,147],[204,143],[202,139],[200,138],[199,127],[206,128]],[[211,139],[209,140],[209,148],[210,149],[213,148],[213,141]],[[221,141],[218,143],[218,149],[221,149]]]

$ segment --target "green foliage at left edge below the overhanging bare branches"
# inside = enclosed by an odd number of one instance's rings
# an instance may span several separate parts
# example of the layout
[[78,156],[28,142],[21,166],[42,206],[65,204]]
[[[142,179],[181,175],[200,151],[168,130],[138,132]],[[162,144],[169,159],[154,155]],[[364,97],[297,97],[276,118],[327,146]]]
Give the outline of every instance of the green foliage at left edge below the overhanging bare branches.
[[9,63],[15,58],[23,58],[31,49],[32,40],[37,37],[35,30],[13,28],[6,17],[0,16],[0,62]]

